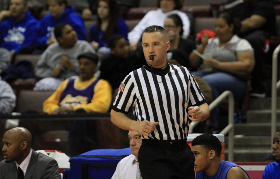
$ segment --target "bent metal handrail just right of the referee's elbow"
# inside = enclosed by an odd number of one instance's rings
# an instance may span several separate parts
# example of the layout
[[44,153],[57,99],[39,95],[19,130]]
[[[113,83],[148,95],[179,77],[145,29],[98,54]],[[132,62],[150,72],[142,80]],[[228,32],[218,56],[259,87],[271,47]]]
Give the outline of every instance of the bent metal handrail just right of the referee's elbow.
[[[228,161],[233,162],[233,115],[234,115],[234,97],[231,91],[223,92],[217,99],[215,99],[210,105],[209,110],[212,111],[219,103],[221,103],[226,97],[228,97],[228,125],[223,129],[220,134],[228,133]],[[193,133],[193,129],[199,122],[191,122],[189,125],[189,134]]]

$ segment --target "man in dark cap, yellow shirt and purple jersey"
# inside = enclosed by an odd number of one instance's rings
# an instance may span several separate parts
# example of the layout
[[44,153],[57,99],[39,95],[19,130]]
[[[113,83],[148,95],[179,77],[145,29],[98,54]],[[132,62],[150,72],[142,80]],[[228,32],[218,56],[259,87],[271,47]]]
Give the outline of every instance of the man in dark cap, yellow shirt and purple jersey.
[[[80,54],[78,60],[79,77],[71,77],[63,81],[54,94],[44,101],[44,112],[48,114],[105,113],[109,110],[112,101],[111,85],[106,80],[94,77],[98,56],[88,52]],[[70,156],[92,150],[96,142],[95,125],[94,120],[70,121]],[[87,141],[88,139],[90,140]]]

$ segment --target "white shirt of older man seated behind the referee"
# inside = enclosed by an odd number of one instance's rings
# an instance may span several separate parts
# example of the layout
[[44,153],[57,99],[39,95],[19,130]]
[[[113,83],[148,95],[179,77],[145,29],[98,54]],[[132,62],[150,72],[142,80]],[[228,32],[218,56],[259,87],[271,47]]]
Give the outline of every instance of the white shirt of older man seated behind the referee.
[[[133,179],[137,173],[137,158],[131,154],[119,161],[111,179]],[[142,178],[142,177],[140,177]]]

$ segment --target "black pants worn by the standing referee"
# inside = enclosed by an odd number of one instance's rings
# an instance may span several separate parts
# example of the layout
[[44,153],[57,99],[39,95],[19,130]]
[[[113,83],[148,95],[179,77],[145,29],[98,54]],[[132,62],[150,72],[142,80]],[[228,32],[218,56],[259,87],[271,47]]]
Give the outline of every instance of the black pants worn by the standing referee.
[[194,160],[186,140],[143,139],[138,152],[142,179],[195,179]]

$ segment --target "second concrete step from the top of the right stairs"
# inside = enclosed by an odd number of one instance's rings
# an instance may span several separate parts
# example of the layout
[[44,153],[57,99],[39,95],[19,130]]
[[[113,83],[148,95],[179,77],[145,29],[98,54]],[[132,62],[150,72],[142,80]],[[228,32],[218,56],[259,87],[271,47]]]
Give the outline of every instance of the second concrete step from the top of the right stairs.
[[[280,109],[280,107],[279,107]],[[280,110],[276,111],[277,122],[280,122]],[[249,110],[246,113],[247,123],[271,122],[271,110]]]

